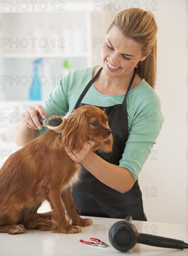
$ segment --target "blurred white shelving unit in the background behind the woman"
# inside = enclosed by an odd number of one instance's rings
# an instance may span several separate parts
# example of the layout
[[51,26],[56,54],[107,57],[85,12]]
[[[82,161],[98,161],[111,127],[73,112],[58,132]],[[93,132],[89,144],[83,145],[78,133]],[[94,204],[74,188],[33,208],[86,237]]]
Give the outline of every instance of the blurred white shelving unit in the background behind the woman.
[[[1,34],[2,38],[7,39],[7,43],[4,43],[1,49],[1,75],[4,76],[0,88],[1,100],[24,101],[28,98],[34,59],[43,59],[38,75],[47,78],[46,84],[42,86],[42,99],[48,97],[60,77],[65,75],[63,66],[65,60],[70,62],[70,70],[92,65],[91,12],[94,2],[34,1],[34,10],[31,2],[28,3],[28,9],[25,11],[22,9],[26,8],[26,1],[4,1],[3,5],[1,2]],[[39,10],[44,8],[45,4],[47,4],[46,10]],[[41,31],[36,32],[39,25]],[[69,33],[65,30],[67,25],[71,29]],[[76,25],[80,25],[80,31],[76,31],[76,28],[79,29]],[[47,41],[45,49],[40,49],[37,43],[34,48],[30,44],[28,48],[23,47],[22,39],[28,36],[38,40],[45,38]],[[64,38],[71,45],[67,47],[65,44],[65,48],[57,49],[57,44],[55,46],[51,44],[52,38],[56,40]],[[77,41],[78,45],[75,44]],[[81,42],[80,48],[79,42]],[[23,78],[25,81],[22,82]]]

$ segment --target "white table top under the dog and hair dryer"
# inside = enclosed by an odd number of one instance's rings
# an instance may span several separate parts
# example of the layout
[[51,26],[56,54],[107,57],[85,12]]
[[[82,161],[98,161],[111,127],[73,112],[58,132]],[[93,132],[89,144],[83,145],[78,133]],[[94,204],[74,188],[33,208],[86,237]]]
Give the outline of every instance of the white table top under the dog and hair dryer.
[[[50,231],[27,230],[25,234],[0,234],[0,256],[76,256],[76,255],[143,255],[143,256],[188,256],[188,249],[168,249],[136,244],[129,252],[120,252],[112,247],[108,239],[110,227],[119,219],[92,217],[93,225],[82,228],[79,234],[54,234]],[[164,236],[188,243],[188,226],[160,222],[132,221],[141,233]],[[97,247],[80,243],[95,237],[109,244]]]

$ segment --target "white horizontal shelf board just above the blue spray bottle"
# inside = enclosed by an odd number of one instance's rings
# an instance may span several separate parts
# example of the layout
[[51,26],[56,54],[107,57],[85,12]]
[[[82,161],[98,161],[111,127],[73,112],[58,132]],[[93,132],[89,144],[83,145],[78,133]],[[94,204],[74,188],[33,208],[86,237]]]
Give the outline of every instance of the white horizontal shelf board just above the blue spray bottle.
[[4,58],[87,58],[88,53],[70,53],[70,54],[53,54],[53,53],[45,53],[45,54],[3,54]]

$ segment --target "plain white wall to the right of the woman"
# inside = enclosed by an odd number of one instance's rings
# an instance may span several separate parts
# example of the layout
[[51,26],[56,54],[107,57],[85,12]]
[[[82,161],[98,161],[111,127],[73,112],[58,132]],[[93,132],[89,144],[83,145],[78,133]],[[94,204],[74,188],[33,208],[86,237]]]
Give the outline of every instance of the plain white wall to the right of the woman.
[[[187,2],[157,1],[156,93],[165,121],[154,150],[140,174],[144,208],[149,221],[188,223],[187,168]],[[151,190],[156,188],[156,197]]]

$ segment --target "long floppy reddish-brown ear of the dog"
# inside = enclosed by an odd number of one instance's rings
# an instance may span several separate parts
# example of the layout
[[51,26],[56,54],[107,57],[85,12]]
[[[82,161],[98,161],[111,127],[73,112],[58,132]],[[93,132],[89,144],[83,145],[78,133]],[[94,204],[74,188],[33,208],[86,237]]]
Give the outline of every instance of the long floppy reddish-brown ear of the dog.
[[68,148],[68,152],[78,153],[87,141],[88,123],[85,109],[75,109],[67,117],[62,134],[62,144]]

